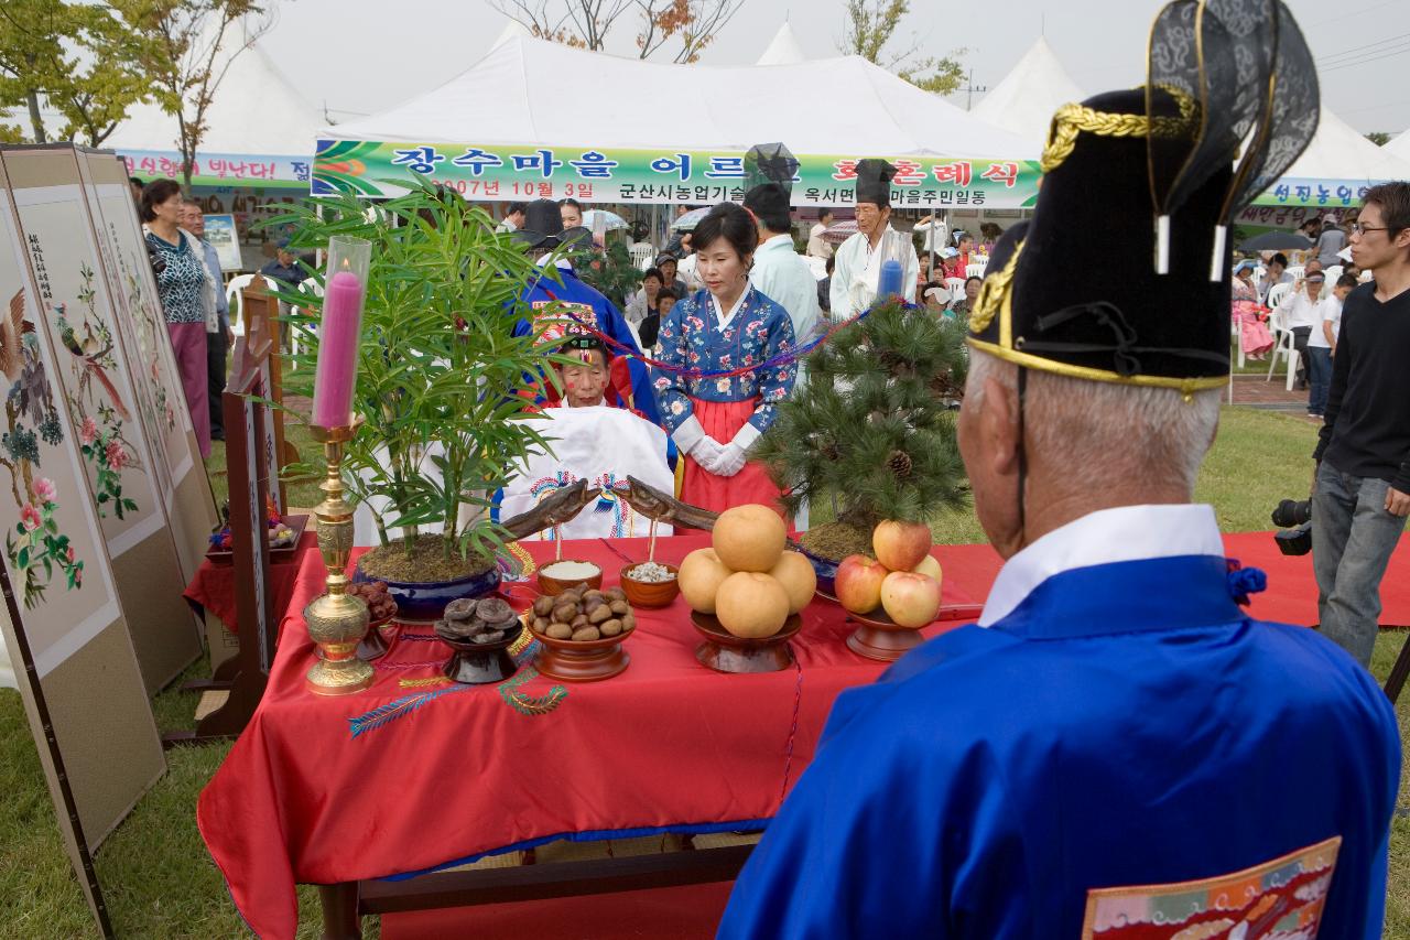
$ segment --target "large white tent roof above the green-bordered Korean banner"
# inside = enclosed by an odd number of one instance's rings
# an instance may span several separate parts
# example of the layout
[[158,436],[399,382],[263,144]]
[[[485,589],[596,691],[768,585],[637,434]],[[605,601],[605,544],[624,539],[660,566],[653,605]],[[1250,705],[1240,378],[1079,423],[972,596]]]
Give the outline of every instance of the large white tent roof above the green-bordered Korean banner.
[[[660,107],[640,107],[644,100]],[[761,80],[754,66],[684,68],[525,37],[431,92],[319,135],[681,151],[783,140],[795,154],[960,159],[1032,159],[1039,151],[856,55],[773,65]]]

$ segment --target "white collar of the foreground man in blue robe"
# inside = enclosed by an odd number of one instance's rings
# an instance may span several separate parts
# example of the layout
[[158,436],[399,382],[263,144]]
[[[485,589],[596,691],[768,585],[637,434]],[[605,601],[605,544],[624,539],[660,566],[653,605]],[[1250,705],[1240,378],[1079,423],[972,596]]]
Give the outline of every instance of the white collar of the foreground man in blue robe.
[[1094,565],[1184,555],[1224,555],[1214,507],[1121,505],[1097,510],[1053,529],[1008,559],[994,579],[979,625],[1008,617],[1055,574]]

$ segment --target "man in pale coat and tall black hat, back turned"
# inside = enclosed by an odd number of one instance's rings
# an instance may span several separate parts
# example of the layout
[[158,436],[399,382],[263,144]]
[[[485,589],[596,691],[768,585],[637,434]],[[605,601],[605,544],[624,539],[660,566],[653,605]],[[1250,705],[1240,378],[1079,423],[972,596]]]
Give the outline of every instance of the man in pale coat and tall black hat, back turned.
[[[744,193],[759,227],[759,247],[749,282],[788,311],[794,339],[801,346],[818,327],[818,278],[794,250],[790,213],[798,161],[783,144],[756,144],[744,157],[746,172],[757,181]],[[797,388],[797,384],[794,385]]]

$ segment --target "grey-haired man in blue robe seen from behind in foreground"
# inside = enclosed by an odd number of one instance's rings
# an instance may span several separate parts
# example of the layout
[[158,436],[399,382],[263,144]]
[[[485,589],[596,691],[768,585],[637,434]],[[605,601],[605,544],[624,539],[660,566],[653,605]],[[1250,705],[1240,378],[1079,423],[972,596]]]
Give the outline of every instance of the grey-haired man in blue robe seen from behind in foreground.
[[[1156,274],[1146,148],[1169,182],[1200,120],[1152,103],[1058,113],[1036,213],[971,313],[960,450],[1008,559],[979,625],[838,697],[721,937],[1380,936],[1394,713],[1335,644],[1241,611],[1262,573],[1191,504],[1228,371],[1231,265],[1211,282],[1210,261],[1237,141]],[[1073,230],[1121,237],[1091,265]]]

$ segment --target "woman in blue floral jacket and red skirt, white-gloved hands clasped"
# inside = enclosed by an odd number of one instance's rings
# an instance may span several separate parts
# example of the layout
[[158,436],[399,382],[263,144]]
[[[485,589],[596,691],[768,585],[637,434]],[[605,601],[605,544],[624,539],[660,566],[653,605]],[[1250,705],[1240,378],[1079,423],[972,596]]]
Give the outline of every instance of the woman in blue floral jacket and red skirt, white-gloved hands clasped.
[[746,452],[798,375],[788,356],[792,320],[749,282],[759,231],[744,209],[715,206],[692,241],[705,289],[661,320],[661,367],[651,374],[661,418],[685,460],[681,500],[716,512],[744,502],[777,508],[778,487]]

